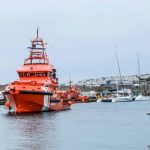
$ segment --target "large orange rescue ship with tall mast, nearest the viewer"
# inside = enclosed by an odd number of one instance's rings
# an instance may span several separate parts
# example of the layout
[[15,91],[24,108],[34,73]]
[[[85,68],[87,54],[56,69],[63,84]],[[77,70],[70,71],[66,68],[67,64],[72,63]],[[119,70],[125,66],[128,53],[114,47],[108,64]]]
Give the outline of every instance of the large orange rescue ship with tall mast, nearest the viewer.
[[70,99],[57,91],[56,69],[49,64],[42,38],[31,40],[30,55],[17,70],[19,79],[6,86],[6,108],[16,113],[69,109]]

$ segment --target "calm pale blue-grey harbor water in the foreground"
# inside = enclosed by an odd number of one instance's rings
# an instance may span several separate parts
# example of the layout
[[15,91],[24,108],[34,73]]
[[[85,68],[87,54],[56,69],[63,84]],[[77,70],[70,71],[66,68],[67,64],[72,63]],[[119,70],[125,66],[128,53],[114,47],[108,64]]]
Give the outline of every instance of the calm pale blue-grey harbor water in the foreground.
[[1,150],[148,150],[150,101],[81,103],[10,114],[0,106]]

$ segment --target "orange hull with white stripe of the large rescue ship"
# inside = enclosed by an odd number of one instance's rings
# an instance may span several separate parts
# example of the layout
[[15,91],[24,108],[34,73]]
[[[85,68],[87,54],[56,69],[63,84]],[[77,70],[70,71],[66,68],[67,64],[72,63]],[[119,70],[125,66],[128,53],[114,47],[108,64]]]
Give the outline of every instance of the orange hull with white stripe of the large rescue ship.
[[37,112],[37,111],[59,111],[70,109],[68,101],[52,100],[50,95],[46,94],[31,94],[5,93],[6,100],[9,102],[9,109],[16,113]]

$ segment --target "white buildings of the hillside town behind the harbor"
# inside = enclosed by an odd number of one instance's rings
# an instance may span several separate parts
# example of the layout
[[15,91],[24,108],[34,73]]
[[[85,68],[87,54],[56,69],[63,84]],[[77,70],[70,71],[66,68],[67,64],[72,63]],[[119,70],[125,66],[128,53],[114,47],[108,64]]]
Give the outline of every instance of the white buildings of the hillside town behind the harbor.
[[[68,82],[69,83],[69,82]],[[60,88],[65,88],[68,83],[60,84]],[[133,89],[140,86],[141,92],[144,95],[149,95],[150,93],[150,74],[138,75],[124,75],[124,76],[110,76],[110,77],[100,77],[96,79],[85,79],[78,82],[73,82],[73,86],[77,86],[81,91],[90,90],[113,90],[122,86],[127,89]]]

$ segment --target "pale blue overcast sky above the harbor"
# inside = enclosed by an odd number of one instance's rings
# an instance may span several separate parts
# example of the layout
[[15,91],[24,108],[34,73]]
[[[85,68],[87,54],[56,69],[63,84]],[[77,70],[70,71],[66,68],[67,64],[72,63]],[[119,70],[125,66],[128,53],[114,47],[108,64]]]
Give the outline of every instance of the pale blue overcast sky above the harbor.
[[[39,35],[60,83],[150,73],[149,0],[5,0],[0,2],[0,84],[16,70]],[[117,46],[115,48],[115,45]]]

